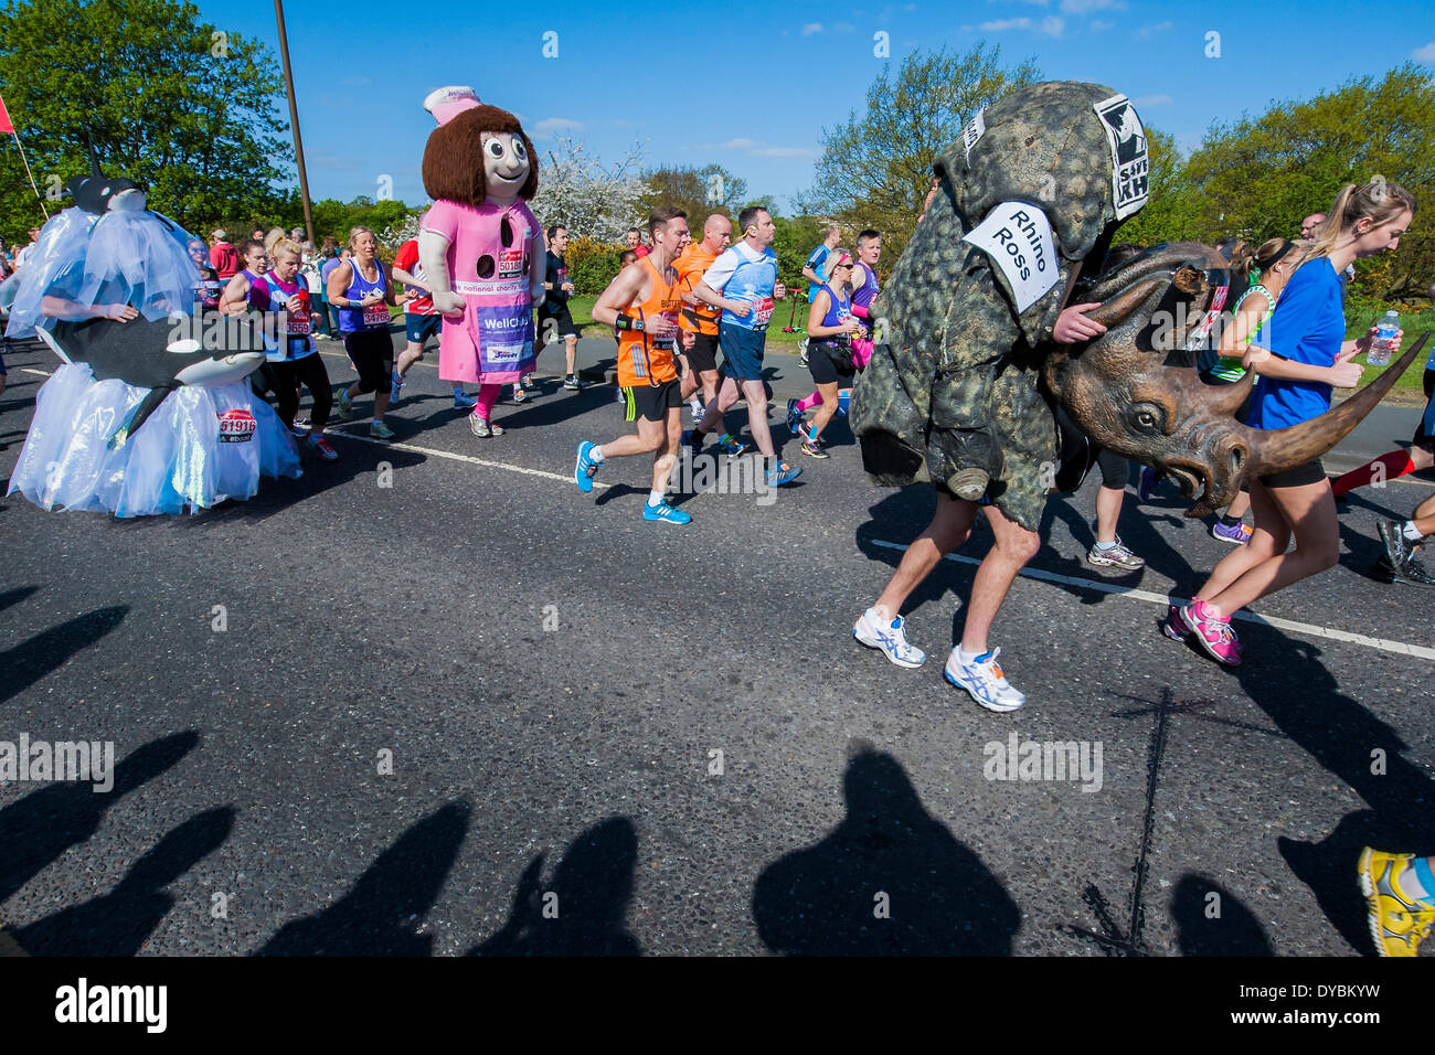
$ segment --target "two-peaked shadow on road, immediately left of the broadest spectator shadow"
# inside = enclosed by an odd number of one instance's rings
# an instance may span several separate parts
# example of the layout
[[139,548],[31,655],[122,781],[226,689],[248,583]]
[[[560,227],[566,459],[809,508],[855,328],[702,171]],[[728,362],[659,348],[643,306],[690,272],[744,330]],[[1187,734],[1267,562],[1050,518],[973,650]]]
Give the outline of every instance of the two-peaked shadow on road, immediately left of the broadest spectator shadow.
[[544,854],[518,878],[508,922],[469,956],[640,956],[627,930],[637,867],[637,830],[610,817],[564,851],[545,884]]

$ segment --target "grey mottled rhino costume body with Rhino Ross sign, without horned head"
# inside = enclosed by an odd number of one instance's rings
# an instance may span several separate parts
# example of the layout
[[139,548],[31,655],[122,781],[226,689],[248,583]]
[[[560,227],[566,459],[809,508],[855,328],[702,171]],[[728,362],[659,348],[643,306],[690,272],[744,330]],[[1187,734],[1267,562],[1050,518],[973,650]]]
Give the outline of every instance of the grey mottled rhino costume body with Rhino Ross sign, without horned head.
[[[852,429],[874,482],[984,492],[1035,531],[1058,461],[1045,346],[1073,270],[1147,201],[1145,133],[1109,88],[1033,85],[977,113],[934,169],[938,194],[872,307]],[[964,241],[989,218],[996,238]]]

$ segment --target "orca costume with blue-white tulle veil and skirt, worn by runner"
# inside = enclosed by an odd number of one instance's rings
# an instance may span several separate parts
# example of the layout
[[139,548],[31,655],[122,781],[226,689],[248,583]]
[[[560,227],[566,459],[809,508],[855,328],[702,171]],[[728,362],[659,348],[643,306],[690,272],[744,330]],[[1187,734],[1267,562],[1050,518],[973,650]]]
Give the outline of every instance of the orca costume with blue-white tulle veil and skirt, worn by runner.
[[[75,205],[7,283],[6,336],[39,334],[63,360],[36,396],[9,492],[139,517],[251,498],[260,474],[298,477],[288,429],[241,383],[264,362],[261,334],[197,309],[192,235],[93,159],[67,189]],[[121,322],[126,306],[138,316]]]

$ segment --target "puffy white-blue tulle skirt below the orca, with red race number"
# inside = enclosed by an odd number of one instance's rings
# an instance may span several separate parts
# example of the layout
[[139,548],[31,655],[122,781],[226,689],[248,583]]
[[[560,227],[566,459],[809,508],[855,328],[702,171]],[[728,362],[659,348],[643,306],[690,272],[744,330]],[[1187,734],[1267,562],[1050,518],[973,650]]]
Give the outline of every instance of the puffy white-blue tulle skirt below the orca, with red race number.
[[[55,372],[36,396],[34,421],[10,475],[44,510],[93,510],[116,517],[191,512],[227,498],[253,498],[260,474],[298,477],[294,438],[247,382],[171,392],[129,441],[109,438],[149,389],[95,380],[86,363]],[[231,413],[221,442],[220,415]],[[248,418],[254,428],[250,432]]]

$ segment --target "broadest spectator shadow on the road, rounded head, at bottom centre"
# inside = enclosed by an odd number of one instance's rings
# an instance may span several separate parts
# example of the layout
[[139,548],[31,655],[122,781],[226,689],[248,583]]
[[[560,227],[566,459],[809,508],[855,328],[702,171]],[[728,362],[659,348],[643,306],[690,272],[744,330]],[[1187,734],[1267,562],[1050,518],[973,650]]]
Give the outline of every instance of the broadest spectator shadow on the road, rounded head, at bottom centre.
[[[931,817],[895,758],[862,746],[847,817],[758,877],[752,916],[792,956],[1007,956],[1020,913],[982,860]],[[881,913],[887,910],[888,916]]]

